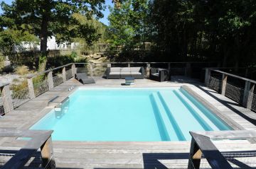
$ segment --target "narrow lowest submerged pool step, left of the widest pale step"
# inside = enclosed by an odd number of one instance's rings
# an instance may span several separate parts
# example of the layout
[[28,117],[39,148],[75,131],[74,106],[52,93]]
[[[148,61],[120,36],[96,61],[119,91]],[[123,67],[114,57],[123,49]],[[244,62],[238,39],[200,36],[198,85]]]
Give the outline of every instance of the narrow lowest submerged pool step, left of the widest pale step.
[[164,105],[162,104],[159,98],[159,95],[157,95],[156,93],[152,93],[152,98],[156,103],[156,109],[159,112],[159,115],[161,116],[161,121],[164,123],[164,129],[166,130],[165,132],[169,139],[171,141],[184,140],[182,136],[179,136],[180,134],[177,133],[178,131],[176,131],[175,127],[173,126],[173,123],[171,123],[171,121],[169,120]]

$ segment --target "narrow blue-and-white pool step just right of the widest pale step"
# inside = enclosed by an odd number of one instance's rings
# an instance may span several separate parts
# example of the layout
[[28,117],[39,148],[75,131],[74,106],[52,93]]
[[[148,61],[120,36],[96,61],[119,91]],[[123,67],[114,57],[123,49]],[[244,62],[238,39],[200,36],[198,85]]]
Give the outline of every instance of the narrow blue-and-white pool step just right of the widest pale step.
[[204,115],[203,112],[200,109],[198,109],[198,107],[196,105],[194,105],[194,103],[192,103],[191,100],[189,100],[186,97],[186,95],[183,95],[183,93],[178,92],[178,91],[174,91],[174,94],[187,107],[189,112],[191,112],[191,115],[193,115],[193,117],[195,117],[195,119],[199,122],[199,124],[201,124],[203,129],[205,129],[206,131],[213,131],[213,130],[218,131],[219,130],[218,127],[216,127],[215,124],[213,124],[213,122],[211,122],[208,119],[208,117],[206,117],[206,115]]

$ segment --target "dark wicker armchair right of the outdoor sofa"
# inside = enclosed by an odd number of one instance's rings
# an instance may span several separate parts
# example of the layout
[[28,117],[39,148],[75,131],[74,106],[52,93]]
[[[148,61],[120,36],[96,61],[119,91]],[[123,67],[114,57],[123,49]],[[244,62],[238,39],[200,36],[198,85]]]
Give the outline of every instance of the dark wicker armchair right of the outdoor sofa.
[[149,78],[154,81],[171,81],[171,72],[168,69],[151,68]]

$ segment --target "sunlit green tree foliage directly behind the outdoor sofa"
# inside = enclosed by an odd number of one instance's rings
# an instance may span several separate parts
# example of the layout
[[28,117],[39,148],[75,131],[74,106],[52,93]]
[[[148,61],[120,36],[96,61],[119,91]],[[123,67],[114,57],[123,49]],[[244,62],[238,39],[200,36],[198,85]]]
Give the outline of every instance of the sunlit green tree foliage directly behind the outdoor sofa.
[[125,0],[110,8],[109,41],[112,46],[134,47],[145,42],[146,0]]

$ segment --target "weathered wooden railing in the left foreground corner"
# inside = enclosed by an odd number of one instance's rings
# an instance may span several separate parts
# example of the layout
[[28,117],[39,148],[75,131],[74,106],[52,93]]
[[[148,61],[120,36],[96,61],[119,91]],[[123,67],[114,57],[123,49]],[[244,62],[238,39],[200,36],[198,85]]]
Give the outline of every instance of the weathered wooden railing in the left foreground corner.
[[[0,137],[30,138],[18,151],[0,150],[0,168],[55,168],[53,131],[0,129]],[[25,141],[25,140],[24,140]],[[38,151],[38,149],[40,149]]]

